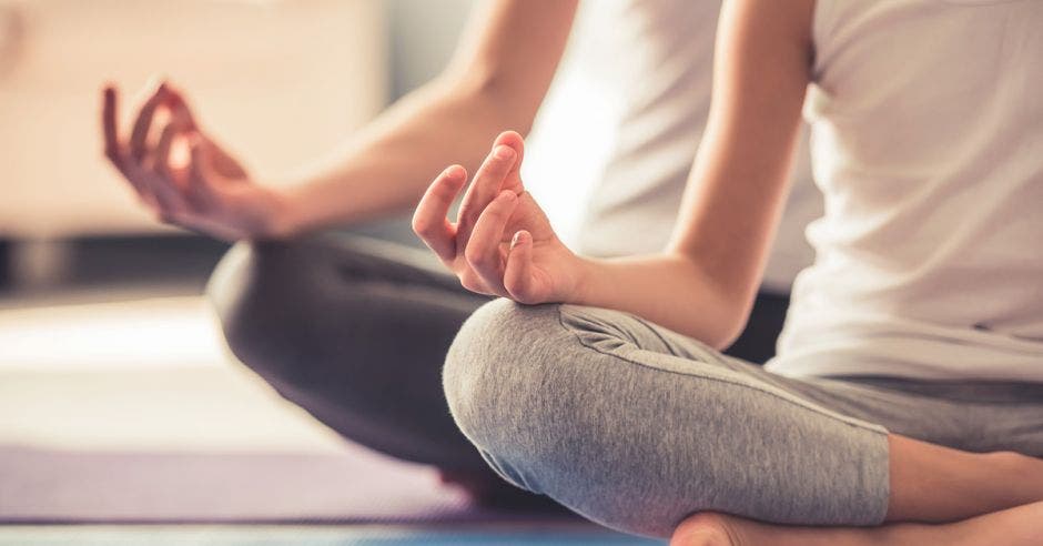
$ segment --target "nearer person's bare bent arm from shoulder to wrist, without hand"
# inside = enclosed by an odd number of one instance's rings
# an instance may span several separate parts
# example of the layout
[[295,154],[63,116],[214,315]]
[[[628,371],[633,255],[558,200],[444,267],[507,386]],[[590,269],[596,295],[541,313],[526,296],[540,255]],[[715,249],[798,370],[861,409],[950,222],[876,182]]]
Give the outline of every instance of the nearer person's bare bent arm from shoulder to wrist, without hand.
[[587,305],[627,311],[717,348],[741,332],[786,201],[808,87],[813,2],[726,2],[706,134],[658,256],[581,261]]

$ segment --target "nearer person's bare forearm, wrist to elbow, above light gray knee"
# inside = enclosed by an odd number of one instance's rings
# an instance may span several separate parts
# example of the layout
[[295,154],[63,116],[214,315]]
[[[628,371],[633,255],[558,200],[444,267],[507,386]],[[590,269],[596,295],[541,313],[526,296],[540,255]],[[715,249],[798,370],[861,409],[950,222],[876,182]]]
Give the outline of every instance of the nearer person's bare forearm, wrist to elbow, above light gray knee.
[[579,269],[579,287],[566,303],[632,313],[717,348],[735,341],[749,315],[747,294],[680,254],[580,257]]

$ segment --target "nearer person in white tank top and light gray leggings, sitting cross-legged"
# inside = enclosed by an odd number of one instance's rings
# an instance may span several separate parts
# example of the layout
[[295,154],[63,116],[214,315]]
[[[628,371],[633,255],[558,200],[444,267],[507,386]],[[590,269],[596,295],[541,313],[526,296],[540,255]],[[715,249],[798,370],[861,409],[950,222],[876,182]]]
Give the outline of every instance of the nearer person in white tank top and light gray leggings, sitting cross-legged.
[[[676,545],[1043,543],[1043,3],[732,0],[719,24],[659,253],[561,244],[515,132],[454,223],[468,172],[434,179],[414,229],[500,296],[447,355],[457,424],[506,481]],[[761,368],[719,350],[802,108],[826,215]]]

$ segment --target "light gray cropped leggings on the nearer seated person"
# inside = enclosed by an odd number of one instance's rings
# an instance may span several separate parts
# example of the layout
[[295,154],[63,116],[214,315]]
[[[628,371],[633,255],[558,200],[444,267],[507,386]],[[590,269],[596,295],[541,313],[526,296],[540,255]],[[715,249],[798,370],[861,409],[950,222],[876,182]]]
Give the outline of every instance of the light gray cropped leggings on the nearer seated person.
[[787,378],[594,307],[486,304],[444,381],[457,424],[505,479],[651,536],[708,509],[880,524],[889,431],[1043,456],[1043,384]]

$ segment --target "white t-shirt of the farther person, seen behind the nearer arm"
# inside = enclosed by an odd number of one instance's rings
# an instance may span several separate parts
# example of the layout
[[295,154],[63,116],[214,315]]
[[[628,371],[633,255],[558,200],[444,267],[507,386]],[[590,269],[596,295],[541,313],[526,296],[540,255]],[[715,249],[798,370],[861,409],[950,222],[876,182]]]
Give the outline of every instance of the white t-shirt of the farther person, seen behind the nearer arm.
[[[720,1],[599,0],[584,8],[599,10],[600,24],[585,38],[597,42],[598,54],[610,51],[611,64],[598,78],[602,92],[618,95],[620,115],[587,200],[578,251],[658,252],[674,229],[710,108]],[[612,13],[605,17],[605,10]],[[581,67],[585,59],[574,61]],[[821,215],[822,198],[807,155],[802,148],[764,273],[767,290],[789,291],[797,272],[811,263],[803,230]]]

